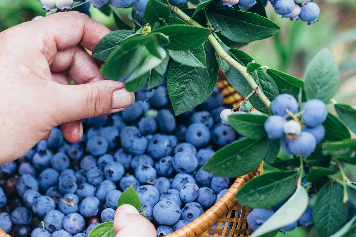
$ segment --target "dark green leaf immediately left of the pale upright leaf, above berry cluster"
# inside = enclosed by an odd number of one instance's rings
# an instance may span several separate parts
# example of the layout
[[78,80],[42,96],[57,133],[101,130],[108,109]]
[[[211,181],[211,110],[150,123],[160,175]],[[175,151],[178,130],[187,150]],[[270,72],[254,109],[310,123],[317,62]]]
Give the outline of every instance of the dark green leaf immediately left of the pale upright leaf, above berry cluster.
[[307,101],[302,80],[278,70],[267,69],[267,73],[276,81],[280,94],[287,93],[298,99],[299,91],[302,88],[302,102]]

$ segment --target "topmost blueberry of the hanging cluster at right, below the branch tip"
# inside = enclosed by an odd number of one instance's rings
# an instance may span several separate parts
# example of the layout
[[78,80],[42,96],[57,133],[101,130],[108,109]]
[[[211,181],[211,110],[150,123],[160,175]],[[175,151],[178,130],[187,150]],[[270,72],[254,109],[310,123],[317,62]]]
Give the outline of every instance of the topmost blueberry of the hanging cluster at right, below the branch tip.
[[[281,1],[289,1],[289,0],[278,0],[277,2]],[[293,0],[290,0],[293,2]],[[283,4],[283,3],[282,3]],[[293,8],[294,8],[294,2],[293,2]],[[276,8],[275,8],[276,9]],[[292,12],[292,11],[291,11]],[[289,109],[290,112],[293,114],[297,113],[298,111],[298,102],[294,98],[294,96],[291,96],[289,94],[281,94],[278,95],[272,102],[272,112],[276,115],[279,116],[286,116],[288,113],[286,112],[286,109]]]

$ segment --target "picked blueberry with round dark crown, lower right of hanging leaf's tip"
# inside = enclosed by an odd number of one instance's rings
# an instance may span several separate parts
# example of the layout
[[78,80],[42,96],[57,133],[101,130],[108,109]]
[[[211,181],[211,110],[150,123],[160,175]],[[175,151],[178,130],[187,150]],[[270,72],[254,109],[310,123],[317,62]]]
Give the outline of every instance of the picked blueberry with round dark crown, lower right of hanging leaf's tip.
[[189,125],[185,138],[196,147],[205,146],[210,141],[210,131],[203,123],[193,123]]

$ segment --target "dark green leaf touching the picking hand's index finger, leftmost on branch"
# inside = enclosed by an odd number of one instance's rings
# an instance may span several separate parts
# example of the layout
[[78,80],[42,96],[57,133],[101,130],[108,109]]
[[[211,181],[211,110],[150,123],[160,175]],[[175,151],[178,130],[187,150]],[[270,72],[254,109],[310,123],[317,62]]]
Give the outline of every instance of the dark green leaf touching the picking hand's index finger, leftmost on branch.
[[109,55],[118,47],[118,44],[124,39],[135,34],[133,31],[120,29],[113,31],[100,39],[93,50],[93,57],[101,61],[105,61]]

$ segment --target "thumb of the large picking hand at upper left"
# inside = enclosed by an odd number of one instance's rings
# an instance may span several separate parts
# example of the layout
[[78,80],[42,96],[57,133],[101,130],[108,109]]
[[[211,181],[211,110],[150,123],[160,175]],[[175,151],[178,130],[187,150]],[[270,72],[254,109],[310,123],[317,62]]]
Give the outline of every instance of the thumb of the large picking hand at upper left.
[[[58,124],[115,113],[129,107],[135,95],[118,81],[101,80],[81,85],[58,84],[56,107],[52,107]],[[59,120],[59,121],[58,121]]]

